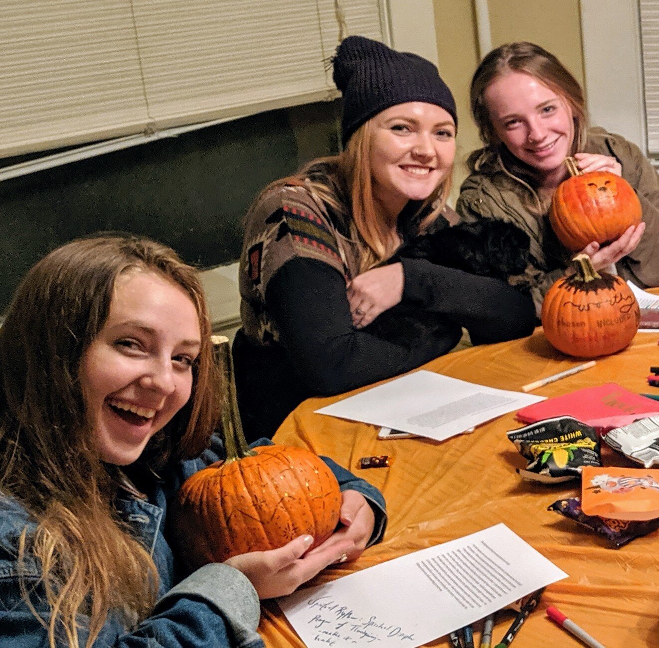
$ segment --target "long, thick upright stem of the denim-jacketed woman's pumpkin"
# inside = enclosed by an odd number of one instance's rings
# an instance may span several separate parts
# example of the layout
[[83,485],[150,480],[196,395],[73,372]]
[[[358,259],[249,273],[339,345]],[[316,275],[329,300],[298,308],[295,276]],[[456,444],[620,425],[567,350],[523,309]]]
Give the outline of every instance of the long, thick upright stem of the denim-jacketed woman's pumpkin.
[[231,358],[231,346],[229,338],[223,335],[213,335],[213,352],[215,360],[222,373],[224,383],[224,396],[222,398],[222,434],[224,437],[224,448],[227,452],[225,463],[242,459],[243,457],[256,454],[247,445],[243,433],[243,423],[238,410],[238,398],[236,396],[236,381],[233,376],[233,359]]

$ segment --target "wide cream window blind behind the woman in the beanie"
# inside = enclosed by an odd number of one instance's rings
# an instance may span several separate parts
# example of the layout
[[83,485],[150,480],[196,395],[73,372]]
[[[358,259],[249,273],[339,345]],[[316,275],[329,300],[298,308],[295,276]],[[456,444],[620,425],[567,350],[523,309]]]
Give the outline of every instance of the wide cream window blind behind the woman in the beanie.
[[336,96],[343,34],[382,0],[3,0],[0,157]]

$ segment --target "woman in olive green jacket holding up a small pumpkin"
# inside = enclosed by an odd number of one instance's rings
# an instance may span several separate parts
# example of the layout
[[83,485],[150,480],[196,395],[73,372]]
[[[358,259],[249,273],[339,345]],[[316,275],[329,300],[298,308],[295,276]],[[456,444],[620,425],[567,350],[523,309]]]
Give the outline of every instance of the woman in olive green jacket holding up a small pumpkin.
[[536,308],[569,266],[571,252],[548,220],[554,190],[581,171],[611,171],[636,190],[643,222],[617,240],[583,250],[596,269],[614,270],[641,288],[659,286],[659,180],[640,149],[602,128],[586,127],[583,91],[552,54],[532,43],[494,49],[471,84],[471,107],[485,147],[469,157],[471,175],[456,211],[464,221],[497,219],[529,236],[529,265],[512,284],[528,285]]

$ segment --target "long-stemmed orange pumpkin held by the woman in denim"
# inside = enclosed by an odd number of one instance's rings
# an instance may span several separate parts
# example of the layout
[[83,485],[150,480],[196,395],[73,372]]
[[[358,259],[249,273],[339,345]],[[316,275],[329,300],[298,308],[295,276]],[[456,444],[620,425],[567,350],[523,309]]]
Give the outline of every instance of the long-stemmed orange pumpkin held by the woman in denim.
[[225,370],[227,458],[192,475],[173,504],[175,543],[190,569],[237,554],[277,549],[300,535],[314,545],[339,522],[341,491],[318,455],[287,446],[250,449],[238,414],[229,340],[216,347]]

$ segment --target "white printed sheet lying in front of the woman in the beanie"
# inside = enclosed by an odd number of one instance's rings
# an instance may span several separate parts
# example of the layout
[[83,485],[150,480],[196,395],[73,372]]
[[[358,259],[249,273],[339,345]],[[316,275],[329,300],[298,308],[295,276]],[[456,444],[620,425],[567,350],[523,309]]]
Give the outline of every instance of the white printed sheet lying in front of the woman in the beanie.
[[316,412],[442,441],[544,398],[421,370]]

